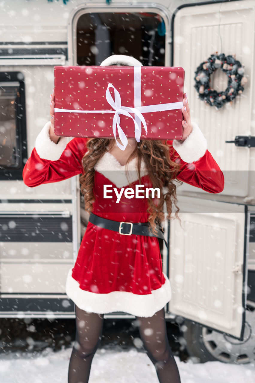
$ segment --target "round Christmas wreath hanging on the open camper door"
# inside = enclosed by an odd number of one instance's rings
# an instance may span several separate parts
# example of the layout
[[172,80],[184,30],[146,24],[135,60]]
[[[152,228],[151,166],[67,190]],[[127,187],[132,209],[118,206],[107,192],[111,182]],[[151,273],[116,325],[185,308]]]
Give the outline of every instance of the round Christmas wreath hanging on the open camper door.
[[[232,106],[234,98],[244,91],[244,85],[247,83],[247,77],[244,77],[244,67],[240,61],[235,60],[234,55],[225,56],[224,53],[217,55],[218,52],[211,54],[209,59],[202,62],[195,72],[195,88],[198,92],[198,98],[207,105],[215,106],[219,110],[227,102]],[[210,75],[218,68],[226,73],[228,77],[227,88],[224,91],[217,92],[209,85]]]

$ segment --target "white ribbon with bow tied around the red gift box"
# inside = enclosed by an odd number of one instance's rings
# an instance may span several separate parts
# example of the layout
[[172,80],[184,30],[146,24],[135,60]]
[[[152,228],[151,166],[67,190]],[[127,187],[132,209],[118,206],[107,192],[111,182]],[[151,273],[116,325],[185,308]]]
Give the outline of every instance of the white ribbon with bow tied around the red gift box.
[[[111,96],[109,88],[113,88],[114,90],[114,100]],[[134,127],[135,127],[135,137],[136,141],[139,142],[142,134],[142,126],[143,124],[146,134],[148,133],[147,130],[147,124],[144,119],[144,116],[142,113],[152,113],[152,112],[159,112],[159,111],[165,111],[165,110],[172,110],[172,109],[181,109],[183,106],[183,102],[171,102],[167,104],[155,104],[155,105],[148,105],[148,106],[141,106],[141,66],[134,66],[134,108],[130,108],[129,106],[121,106],[121,97],[116,88],[111,83],[108,83],[108,87],[105,92],[106,100],[111,105],[111,107],[114,110],[71,110],[71,109],[60,109],[60,108],[54,108],[55,113],[114,113],[113,117],[113,134],[114,138],[116,140],[116,143],[121,150],[125,150],[127,147],[127,137],[124,131],[121,129],[121,126],[119,125],[120,117],[119,115],[124,115],[127,117],[132,118],[134,121]],[[130,113],[134,113],[134,118],[131,116]],[[119,139],[121,140],[122,144],[119,144],[119,142],[116,139],[116,127],[118,128],[118,134]]]

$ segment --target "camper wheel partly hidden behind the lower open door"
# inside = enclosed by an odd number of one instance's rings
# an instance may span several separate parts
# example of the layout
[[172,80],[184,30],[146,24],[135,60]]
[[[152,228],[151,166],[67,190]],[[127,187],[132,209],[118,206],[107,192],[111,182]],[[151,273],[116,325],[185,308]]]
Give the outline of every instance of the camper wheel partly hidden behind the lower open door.
[[255,360],[255,303],[247,301],[244,340],[234,339],[192,321],[185,321],[183,337],[193,362],[218,360],[224,363],[244,364]]

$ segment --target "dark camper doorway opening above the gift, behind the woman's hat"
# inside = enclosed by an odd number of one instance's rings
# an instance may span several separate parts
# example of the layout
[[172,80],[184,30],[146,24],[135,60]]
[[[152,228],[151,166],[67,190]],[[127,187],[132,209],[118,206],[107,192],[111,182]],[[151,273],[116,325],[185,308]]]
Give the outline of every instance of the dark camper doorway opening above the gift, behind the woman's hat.
[[77,23],[77,65],[99,65],[111,54],[143,65],[165,65],[165,23],[157,13],[84,13]]

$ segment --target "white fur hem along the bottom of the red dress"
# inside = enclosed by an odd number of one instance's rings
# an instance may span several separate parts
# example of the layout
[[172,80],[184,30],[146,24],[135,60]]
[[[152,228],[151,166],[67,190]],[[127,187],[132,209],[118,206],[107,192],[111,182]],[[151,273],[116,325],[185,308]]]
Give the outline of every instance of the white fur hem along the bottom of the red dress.
[[129,313],[134,316],[149,317],[165,307],[170,301],[172,290],[167,276],[165,283],[151,294],[133,294],[127,291],[111,291],[108,294],[92,293],[82,290],[79,283],[72,277],[70,268],[65,290],[67,296],[78,308],[90,313],[107,314],[116,311]]

